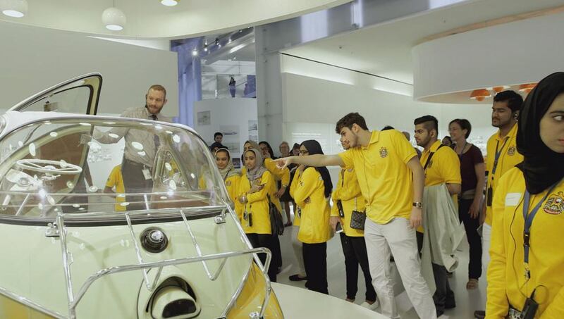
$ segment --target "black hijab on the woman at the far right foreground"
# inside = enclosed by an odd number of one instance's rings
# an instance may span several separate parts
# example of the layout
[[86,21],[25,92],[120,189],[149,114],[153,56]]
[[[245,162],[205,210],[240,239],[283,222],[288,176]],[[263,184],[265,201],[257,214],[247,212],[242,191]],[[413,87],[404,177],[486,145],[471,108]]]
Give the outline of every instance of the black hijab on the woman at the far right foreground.
[[519,113],[517,151],[525,160],[517,168],[523,172],[530,194],[539,194],[564,177],[564,154],[549,149],[540,134],[541,118],[562,93],[564,72],[548,75],[529,93]]

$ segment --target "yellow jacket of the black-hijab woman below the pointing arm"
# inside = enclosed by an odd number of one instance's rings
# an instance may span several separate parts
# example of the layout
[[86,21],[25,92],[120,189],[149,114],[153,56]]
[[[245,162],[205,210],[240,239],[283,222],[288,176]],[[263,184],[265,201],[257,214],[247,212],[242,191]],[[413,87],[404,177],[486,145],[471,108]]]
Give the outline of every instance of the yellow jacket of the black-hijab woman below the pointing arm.
[[[298,186],[293,194],[296,204],[302,208],[298,240],[306,244],[327,242],[332,235],[329,226],[331,209],[325,199],[321,174],[315,168],[306,168],[298,179]],[[308,198],[309,203],[306,204]]]

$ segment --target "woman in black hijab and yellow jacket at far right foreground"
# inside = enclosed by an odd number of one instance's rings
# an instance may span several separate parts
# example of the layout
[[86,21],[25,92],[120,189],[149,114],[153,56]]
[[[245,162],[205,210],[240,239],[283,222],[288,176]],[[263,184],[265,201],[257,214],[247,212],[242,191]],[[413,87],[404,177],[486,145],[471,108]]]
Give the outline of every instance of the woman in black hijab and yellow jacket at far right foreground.
[[564,73],[539,82],[517,125],[524,161],[494,194],[486,318],[526,304],[538,309],[521,318],[564,318]]

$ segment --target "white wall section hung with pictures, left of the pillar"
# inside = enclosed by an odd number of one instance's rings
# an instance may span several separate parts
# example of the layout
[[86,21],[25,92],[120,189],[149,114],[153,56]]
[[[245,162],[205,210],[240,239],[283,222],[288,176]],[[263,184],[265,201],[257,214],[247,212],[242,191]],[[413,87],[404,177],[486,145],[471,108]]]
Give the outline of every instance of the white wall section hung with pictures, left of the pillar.
[[[209,111],[209,122],[202,118]],[[200,113],[200,114],[198,114]],[[228,98],[197,101],[194,104],[194,129],[207,144],[214,142],[214,133],[223,132],[222,144],[228,146],[232,158],[241,156],[243,144],[250,135],[249,124],[257,123],[257,99]],[[237,134],[226,134],[236,132]]]

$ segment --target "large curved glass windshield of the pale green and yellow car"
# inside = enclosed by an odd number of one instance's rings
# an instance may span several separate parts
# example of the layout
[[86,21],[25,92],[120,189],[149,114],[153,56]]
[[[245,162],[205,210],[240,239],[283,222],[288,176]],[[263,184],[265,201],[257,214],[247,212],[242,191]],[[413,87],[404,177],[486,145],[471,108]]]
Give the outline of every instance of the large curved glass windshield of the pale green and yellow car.
[[0,215],[49,218],[228,202],[200,137],[164,123],[42,120],[0,141]]

